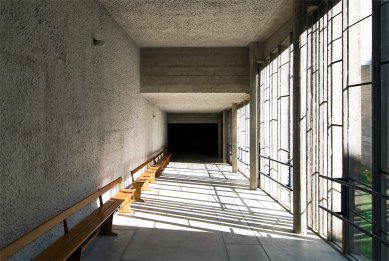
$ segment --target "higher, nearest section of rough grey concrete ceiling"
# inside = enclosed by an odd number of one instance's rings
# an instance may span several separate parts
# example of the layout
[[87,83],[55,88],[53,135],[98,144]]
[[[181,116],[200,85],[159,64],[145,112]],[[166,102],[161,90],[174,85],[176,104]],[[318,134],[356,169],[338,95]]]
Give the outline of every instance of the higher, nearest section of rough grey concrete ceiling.
[[292,15],[292,0],[99,0],[140,47],[247,46]]

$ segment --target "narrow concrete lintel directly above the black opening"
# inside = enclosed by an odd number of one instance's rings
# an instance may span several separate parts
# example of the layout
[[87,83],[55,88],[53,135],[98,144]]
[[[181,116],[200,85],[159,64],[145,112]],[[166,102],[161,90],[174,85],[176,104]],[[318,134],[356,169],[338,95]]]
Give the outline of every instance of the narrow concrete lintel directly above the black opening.
[[219,123],[219,113],[168,113],[168,123]]

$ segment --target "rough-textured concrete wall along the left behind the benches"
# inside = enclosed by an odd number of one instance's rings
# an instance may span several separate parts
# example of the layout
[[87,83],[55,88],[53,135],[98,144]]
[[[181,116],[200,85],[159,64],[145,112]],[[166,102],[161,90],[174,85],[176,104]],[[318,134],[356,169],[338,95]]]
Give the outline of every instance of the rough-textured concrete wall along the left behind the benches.
[[[167,135],[165,114],[140,95],[138,47],[100,4],[1,0],[0,25],[4,246],[128,173]],[[61,233],[15,258],[35,256]]]

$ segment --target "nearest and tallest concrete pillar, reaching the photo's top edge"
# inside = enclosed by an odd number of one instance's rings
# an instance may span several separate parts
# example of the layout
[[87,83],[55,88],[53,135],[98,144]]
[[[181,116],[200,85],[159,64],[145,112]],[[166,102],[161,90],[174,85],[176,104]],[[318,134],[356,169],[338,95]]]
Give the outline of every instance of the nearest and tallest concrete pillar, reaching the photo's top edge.
[[304,30],[304,1],[293,0],[293,231],[307,232],[306,173],[300,170],[300,35]]

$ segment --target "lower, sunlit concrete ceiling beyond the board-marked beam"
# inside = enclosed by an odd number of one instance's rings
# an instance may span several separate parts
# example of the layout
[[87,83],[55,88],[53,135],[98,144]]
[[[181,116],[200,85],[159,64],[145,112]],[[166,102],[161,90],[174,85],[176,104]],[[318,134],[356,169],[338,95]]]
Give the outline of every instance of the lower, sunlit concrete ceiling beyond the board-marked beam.
[[250,98],[245,93],[142,93],[148,101],[169,113],[214,113]]

